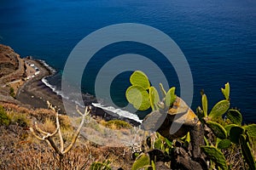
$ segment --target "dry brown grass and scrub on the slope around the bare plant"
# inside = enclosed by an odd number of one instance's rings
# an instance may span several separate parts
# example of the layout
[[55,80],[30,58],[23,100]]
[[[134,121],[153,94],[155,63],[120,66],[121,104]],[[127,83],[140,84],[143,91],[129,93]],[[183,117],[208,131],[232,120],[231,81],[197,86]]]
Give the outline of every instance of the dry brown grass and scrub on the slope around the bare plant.
[[[44,141],[32,136],[28,127],[33,122],[49,132],[55,129],[55,113],[50,110],[28,110],[18,105],[3,104],[10,124],[0,126],[0,169],[58,169],[58,156]],[[72,138],[74,129],[67,116],[60,116],[65,144]],[[63,126],[65,125],[65,126]],[[56,140],[57,141],[57,140]],[[131,150],[92,144],[79,137],[73,149],[64,157],[65,169],[89,169],[94,161],[111,161],[110,166],[131,169]]]

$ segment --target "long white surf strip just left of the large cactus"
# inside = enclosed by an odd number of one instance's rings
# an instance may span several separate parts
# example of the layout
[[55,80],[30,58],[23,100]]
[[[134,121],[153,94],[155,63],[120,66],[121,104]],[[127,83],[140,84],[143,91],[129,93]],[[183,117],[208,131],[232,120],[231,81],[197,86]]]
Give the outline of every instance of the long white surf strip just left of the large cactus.
[[91,105],[93,105],[95,107],[98,107],[98,108],[101,108],[102,110],[105,110],[105,111],[111,111],[113,113],[118,114],[119,116],[123,116],[123,117],[129,118],[129,119],[132,119],[132,120],[134,120],[136,122],[140,122],[140,123],[143,122],[143,120],[140,120],[139,117],[136,114],[133,114],[133,113],[131,113],[129,111],[124,111],[124,110],[121,110],[121,109],[116,109],[113,106],[105,106],[105,105],[102,105],[100,103],[92,103]]

